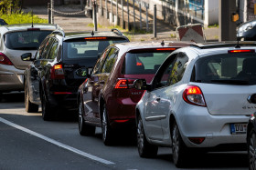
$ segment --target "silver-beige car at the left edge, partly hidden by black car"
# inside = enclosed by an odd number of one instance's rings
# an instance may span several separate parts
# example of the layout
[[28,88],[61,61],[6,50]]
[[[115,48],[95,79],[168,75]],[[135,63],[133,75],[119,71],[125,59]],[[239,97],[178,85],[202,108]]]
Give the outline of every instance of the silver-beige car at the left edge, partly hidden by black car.
[[59,25],[23,24],[0,26],[0,93],[24,90],[23,73],[30,62],[21,55],[35,55],[37,47]]

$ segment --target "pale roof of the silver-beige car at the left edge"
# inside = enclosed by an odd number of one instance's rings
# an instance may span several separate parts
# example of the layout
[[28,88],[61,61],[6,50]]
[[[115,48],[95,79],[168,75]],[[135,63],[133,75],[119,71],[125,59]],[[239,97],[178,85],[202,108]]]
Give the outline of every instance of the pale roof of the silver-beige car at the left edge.
[[2,25],[0,28],[5,28],[5,32],[25,31],[27,28],[40,28],[41,30],[56,30],[61,29],[59,25],[53,24],[16,24],[16,25]]

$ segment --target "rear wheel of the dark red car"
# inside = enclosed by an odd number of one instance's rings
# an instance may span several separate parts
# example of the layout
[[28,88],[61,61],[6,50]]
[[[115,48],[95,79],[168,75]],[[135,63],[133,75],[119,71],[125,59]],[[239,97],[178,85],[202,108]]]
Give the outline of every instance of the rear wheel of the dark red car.
[[102,140],[104,145],[112,145],[113,132],[108,119],[106,105],[103,105],[103,113],[101,118]]

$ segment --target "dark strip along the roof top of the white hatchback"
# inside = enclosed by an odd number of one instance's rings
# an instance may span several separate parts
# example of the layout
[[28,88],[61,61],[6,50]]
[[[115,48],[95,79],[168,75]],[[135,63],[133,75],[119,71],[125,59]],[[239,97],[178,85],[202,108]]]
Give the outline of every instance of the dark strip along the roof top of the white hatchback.
[[[209,49],[209,48],[220,48],[220,47],[236,47],[238,45],[237,41],[229,42],[216,42],[216,43],[206,43],[206,44],[192,44],[190,46],[197,47],[200,49]],[[240,46],[256,46],[256,43],[253,41],[240,41]]]

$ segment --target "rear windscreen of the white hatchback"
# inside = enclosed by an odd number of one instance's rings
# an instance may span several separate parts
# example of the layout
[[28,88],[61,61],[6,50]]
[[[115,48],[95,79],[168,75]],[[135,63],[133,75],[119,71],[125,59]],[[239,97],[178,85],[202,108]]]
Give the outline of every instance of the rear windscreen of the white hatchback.
[[192,82],[256,85],[256,54],[211,55],[197,60]]

